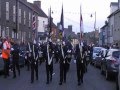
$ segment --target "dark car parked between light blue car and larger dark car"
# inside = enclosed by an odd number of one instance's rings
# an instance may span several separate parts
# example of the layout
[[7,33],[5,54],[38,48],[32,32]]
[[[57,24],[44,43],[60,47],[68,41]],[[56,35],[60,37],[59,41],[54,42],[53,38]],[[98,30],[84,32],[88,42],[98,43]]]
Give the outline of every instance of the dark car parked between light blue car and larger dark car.
[[96,57],[96,60],[94,62],[96,67],[100,67],[101,66],[101,61],[105,57],[106,52],[107,52],[107,49],[102,48],[100,53],[97,54],[98,57]]

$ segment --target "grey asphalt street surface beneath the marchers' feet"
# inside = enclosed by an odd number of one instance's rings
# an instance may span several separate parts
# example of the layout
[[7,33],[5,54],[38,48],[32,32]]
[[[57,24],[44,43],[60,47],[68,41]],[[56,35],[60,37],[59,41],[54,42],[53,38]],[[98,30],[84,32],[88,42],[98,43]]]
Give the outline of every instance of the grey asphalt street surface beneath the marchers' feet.
[[[115,81],[107,81],[100,74],[100,70],[89,65],[85,73],[84,83],[77,85],[76,64],[71,62],[70,71],[67,74],[67,81],[59,85],[59,64],[54,64],[53,81],[46,85],[45,64],[39,66],[39,80],[30,83],[30,71],[26,67],[21,68],[21,75],[12,78],[10,72],[8,78],[0,76],[0,90],[116,90]],[[36,78],[35,78],[36,79]]]

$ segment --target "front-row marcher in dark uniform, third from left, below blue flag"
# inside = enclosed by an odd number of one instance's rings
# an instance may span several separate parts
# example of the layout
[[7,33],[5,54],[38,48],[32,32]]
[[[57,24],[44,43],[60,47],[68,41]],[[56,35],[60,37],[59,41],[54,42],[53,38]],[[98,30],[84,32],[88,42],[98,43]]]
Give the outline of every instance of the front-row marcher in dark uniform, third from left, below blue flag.
[[59,81],[59,85],[62,85],[62,83],[66,83],[66,52],[67,52],[67,48],[65,48],[65,42],[63,42],[63,44],[60,45],[60,81]]

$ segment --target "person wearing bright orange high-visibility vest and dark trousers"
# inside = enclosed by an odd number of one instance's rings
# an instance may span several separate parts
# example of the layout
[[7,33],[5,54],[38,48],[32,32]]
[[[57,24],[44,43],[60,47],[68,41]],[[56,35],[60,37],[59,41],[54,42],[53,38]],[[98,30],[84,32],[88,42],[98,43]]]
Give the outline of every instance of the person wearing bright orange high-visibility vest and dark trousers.
[[4,61],[4,78],[9,76],[10,48],[11,48],[10,42],[6,38],[4,38],[2,48],[2,58]]

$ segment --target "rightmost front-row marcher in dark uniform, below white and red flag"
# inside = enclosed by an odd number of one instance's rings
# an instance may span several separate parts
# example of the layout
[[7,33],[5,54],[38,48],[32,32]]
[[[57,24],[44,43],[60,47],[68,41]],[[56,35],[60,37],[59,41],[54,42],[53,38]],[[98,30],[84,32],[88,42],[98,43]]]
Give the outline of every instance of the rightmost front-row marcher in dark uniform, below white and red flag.
[[84,54],[83,54],[83,47],[80,44],[76,45],[75,50],[75,58],[76,58],[76,68],[77,68],[77,79],[78,79],[78,85],[83,83],[83,76],[84,76]]

